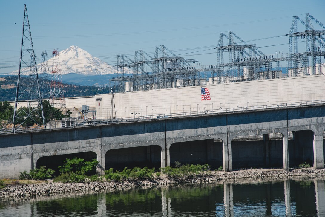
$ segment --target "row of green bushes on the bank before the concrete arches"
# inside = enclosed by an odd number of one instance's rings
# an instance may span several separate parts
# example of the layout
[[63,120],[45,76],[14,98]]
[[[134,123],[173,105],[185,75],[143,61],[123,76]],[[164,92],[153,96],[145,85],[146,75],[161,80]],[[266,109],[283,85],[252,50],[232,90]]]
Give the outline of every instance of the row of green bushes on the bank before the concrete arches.
[[54,170],[46,169],[46,167],[41,166],[39,169],[30,170],[29,173],[26,171],[21,172],[19,178],[22,180],[46,180],[54,178],[53,182],[60,183],[96,182],[105,178],[107,181],[119,182],[135,178],[139,180],[150,180],[152,178],[160,179],[162,174],[167,175],[170,179],[188,179],[193,178],[195,174],[211,170],[211,166],[208,164],[181,165],[180,162],[176,161],[175,168],[165,167],[160,168],[159,170],[156,170],[155,168],[149,169],[148,167],[135,167],[132,169],[126,167],[122,171],[114,171],[113,168],[110,168],[109,170],[105,170],[105,175],[101,177],[97,175],[97,165],[98,161],[96,159],[85,161],[78,157],[72,159],[66,158],[63,161],[63,165],[58,167],[61,173],[58,177],[54,177]]

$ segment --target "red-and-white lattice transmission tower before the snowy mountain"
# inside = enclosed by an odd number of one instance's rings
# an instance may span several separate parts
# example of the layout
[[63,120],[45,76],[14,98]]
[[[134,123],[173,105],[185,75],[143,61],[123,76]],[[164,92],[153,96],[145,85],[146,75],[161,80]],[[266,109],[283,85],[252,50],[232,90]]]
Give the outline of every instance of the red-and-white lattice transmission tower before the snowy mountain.
[[50,104],[56,108],[65,108],[65,98],[62,85],[61,67],[59,60],[58,48],[54,49],[53,52],[53,63],[52,63],[52,78],[50,84]]

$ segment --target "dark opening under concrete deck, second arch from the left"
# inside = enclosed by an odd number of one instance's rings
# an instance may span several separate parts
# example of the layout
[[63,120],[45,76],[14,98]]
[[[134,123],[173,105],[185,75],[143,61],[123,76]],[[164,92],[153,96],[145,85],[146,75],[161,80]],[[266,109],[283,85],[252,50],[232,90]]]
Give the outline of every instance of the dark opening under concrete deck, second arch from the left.
[[129,148],[110,149],[105,154],[105,168],[109,170],[123,170],[125,167],[148,167],[159,169],[161,167],[162,147],[147,145]]

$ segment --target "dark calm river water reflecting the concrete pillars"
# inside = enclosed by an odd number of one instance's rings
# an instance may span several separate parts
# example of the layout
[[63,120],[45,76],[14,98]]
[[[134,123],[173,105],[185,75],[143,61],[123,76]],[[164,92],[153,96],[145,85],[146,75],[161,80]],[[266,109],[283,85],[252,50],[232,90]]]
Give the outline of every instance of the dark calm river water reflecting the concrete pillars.
[[0,198],[0,216],[325,216],[325,181],[249,179]]

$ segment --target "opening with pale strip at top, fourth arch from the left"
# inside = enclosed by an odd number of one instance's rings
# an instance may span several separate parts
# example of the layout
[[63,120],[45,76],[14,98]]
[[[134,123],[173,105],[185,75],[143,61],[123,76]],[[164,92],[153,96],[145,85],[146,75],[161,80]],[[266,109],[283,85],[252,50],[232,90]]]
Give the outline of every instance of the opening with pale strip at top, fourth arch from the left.
[[237,136],[231,141],[232,169],[283,168],[283,134]]

